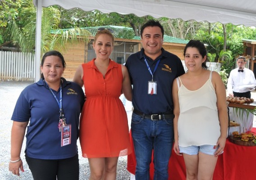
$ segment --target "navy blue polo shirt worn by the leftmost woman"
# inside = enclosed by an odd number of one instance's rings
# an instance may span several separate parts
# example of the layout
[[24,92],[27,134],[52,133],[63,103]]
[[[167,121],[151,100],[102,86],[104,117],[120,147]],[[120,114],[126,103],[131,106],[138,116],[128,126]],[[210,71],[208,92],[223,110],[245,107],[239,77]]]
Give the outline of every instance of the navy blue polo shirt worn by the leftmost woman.
[[[62,106],[66,123],[71,124],[71,144],[61,147],[61,133],[58,129],[59,105],[41,79],[21,92],[11,117],[13,121],[29,121],[25,149],[28,157],[65,159],[78,153],[79,116],[84,93],[78,84],[64,78],[62,80]],[[60,89],[53,92],[59,99]]]

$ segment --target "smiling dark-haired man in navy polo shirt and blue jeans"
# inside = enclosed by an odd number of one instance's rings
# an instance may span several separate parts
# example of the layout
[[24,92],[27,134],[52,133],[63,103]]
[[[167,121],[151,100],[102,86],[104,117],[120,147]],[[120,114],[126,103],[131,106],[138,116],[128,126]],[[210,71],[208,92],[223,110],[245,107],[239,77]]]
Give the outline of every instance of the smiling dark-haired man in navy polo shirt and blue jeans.
[[168,180],[173,129],[172,84],[184,74],[181,60],[162,48],[164,28],[154,20],[141,28],[142,50],[125,66],[133,84],[131,131],[136,155],[136,180],[149,180],[154,150],[154,180]]

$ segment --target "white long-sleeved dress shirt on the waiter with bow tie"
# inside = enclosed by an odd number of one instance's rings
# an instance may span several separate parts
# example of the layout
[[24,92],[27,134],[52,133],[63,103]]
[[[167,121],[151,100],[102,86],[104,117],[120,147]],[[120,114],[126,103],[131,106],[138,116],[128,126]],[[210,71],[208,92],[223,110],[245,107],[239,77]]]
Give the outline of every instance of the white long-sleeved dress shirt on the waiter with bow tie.
[[244,68],[243,72],[238,72],[238,68],[235,68],[230,72],[227,84],[229,94],[233,94],[233,91],[237,93],[252,91],[255,90],[255,87],[255,76],[250,69]]

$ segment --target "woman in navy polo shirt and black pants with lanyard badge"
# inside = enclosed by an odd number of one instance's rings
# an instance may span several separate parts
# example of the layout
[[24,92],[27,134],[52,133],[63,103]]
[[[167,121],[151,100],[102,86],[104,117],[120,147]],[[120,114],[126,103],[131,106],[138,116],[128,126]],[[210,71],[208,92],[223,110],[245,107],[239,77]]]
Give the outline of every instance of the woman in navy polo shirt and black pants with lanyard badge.
[[62,76],[66,63],[58,51],[41,61],[41,79],[28,85],[14,108],[9,171],[23,170],[20,152],[25,131],[25,157],[34,180],[78,180],[78,125],[84,103],[82,88]]

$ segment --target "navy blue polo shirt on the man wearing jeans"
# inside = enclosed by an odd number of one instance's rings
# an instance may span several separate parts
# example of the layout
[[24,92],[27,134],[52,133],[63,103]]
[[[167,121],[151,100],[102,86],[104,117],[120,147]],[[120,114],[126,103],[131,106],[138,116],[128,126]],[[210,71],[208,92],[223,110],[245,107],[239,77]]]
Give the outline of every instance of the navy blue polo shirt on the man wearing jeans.
[[[173,81],[185,73],[178,56],[165,51],[163,48],[161,50],[162,54],[152,60],[146,57],[144,49],[142,49],[130,55],[125,64],[133,84],[133,107],[145,114],[165,113],[174,109]],[[146,66],[144,57],[146,57],[152,72],[158,59],[160,59],[153,78],[153,81],[157,81],[157,94],[148,94],[148,81],[152,80],[152,75]]]

